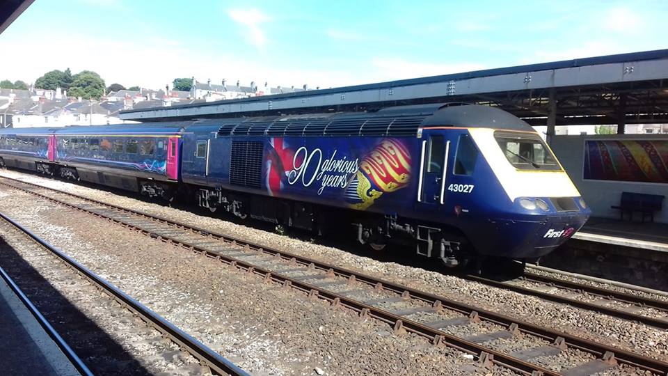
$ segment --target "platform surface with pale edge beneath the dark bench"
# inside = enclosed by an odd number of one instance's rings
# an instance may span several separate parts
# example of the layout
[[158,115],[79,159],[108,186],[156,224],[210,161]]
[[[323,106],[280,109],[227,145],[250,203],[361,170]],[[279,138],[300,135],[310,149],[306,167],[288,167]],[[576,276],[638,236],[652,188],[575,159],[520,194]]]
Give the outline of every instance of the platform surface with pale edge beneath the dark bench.
[[668,252],[668,224],[592,217],[573,239]]

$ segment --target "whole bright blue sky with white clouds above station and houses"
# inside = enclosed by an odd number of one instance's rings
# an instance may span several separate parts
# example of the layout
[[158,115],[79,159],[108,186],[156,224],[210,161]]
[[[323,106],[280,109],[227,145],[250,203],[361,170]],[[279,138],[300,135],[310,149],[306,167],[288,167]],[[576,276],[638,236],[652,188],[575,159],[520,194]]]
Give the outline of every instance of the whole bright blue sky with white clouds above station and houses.
[[665,49],[666,19],[662,0],[36,0],[0,34],[0,80],[329,88]]

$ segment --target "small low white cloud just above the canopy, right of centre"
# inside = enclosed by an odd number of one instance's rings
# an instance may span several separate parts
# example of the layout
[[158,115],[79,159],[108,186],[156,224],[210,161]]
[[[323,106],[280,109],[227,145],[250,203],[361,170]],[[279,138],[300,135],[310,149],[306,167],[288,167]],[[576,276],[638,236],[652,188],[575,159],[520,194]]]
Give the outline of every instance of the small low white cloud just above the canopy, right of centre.
[[372,65],[376,68],[374,81],[447,75],[486,68],[480,63],[419,63],[396,57],[374,58]]

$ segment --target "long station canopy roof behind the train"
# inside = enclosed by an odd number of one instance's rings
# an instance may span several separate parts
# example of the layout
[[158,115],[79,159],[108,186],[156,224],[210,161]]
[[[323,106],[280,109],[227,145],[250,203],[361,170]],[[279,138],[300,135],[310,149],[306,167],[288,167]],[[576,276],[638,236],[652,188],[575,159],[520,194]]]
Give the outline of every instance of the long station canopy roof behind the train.
[[124,120],[270,116],[466,102],[531,125],[668,123],[668,49],[216,102],[122,111]]

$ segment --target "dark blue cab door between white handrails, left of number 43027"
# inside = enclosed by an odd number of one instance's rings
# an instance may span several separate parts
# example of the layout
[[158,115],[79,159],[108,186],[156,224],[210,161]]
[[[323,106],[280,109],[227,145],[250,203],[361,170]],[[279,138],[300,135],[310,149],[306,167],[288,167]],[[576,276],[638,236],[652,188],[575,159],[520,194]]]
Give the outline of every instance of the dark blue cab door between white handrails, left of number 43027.
[[450,141],[441,133],[424,132],[420,154],[420,180],[417,201],[426,204],[445,202],[445,180],[447,174]]

